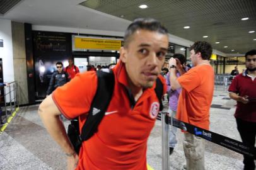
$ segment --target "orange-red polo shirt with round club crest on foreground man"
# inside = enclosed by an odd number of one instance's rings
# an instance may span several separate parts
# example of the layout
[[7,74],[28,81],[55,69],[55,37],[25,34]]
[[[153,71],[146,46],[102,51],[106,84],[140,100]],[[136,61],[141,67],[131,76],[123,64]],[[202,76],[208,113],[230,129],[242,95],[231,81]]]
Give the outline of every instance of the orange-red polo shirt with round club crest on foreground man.
[[[102,122],[89,140],[84,141],[76,169],[146,170],[146,149],[160,104],[153,88],[145,89],[132,105],[127,90],[127,73],[119,62],[114,68],[115,87]],[[159,76],[166,92],[165,79]],[[72,119],[79,116],[80,130],[96,93],[95,71],[78,74],[53,93],[62,114]]]

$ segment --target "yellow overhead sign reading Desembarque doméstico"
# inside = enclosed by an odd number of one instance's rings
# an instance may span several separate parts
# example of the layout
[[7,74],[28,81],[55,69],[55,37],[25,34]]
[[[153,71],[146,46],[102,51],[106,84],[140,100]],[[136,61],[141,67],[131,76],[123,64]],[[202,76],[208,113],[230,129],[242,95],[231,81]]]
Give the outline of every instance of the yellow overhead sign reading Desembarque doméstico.
[[74,48],[91,50],[119,50],[122,40],[74,37]]

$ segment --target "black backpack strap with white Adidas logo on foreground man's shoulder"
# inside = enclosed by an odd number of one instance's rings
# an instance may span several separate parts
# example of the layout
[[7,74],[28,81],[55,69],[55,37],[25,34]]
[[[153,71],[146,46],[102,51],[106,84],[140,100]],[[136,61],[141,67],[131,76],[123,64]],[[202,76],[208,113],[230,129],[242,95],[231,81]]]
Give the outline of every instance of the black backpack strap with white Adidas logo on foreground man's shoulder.
[[83,125],[81,139],[83,141],[98,130],[98,125],[102,121],[105,111],[112,99],[113,88],[115,86],[115,76],[111,69],[101,69],[96,71],[98,77],[98,88],[91,103],[91,108]]

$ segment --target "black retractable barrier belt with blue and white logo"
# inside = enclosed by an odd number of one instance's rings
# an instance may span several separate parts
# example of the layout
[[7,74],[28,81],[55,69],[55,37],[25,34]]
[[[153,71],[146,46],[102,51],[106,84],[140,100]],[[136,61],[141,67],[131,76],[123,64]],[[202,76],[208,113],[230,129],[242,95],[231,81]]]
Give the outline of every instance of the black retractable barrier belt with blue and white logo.
[[168,125],[173,125],[174,127],[180,128],[184,131],[197,135],[198,137],[201,137],[210,142],[213,142],[214,144],[221,145],[230,150],[233,150],[245,156],[250,156],[250,157],[253,157],[253,159],[256,159],[256,147],[247,146],[237,140],[224,137],[223,135],[219,135],[218,133],[214,133],[209,130],[205,130],[203,128],[195,127],[194,125],[190,125],[189,123],[185,123],[175,118],[171,118],[168,115],[166,116],[168,117],[166,118],[166,121],[167,121],[166,123]]

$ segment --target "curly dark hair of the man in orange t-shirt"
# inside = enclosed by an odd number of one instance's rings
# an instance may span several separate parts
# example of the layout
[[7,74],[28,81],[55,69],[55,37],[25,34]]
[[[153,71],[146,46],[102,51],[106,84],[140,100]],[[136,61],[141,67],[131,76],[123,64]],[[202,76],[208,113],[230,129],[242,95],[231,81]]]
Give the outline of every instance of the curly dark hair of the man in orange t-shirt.
[[195,54],[197,54],[198,52],[201,52],[201,56],[203,60],[210,60],[211,55],[212,55],[212,46],[210,43],[208,42],[200,42],[197,41],[195,42],[189,49],[194,50]]

